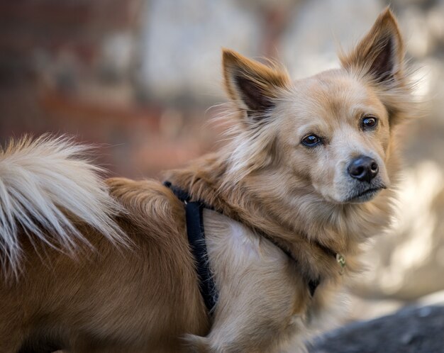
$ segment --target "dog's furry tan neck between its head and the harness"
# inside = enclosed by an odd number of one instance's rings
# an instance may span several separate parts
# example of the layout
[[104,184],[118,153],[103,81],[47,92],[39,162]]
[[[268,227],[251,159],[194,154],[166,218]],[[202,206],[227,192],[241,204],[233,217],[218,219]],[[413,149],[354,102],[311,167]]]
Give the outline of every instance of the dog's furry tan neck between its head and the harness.
[[356,271],[360,243],[389,224],[391,191],[358,205],[335,205],[312,195],[285,204],[288,200],[272,192],[255,191],[249,181],[221,187],[226,163],[223,155],[206,155],[166,177],[192,198],[272,239],[292,254],[308,278],[337,277],[342,269],[335,254],[347,259],[346,271]]

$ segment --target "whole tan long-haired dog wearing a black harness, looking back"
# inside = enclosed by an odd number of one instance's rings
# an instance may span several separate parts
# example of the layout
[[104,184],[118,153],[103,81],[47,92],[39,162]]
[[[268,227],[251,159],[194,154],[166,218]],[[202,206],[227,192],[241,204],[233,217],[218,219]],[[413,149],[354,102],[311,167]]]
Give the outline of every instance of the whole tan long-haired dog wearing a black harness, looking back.
[[223,50],[231,138],[165,184],[102,179],[67,138],[11,141],[0,352],[304,350],[390,224],[416,111],[389,9],[340,63],[292,82]]

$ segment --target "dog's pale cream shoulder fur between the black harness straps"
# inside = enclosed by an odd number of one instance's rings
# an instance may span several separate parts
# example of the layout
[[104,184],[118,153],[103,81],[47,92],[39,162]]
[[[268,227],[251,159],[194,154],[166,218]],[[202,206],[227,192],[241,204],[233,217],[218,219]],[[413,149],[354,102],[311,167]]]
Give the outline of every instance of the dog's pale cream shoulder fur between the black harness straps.
[[266,352],[282,349],[294,333],[302,333],[312,301],[294,261],[220,213],[205,210],[204,228],[218,290],[210,340],[225,347],[254,339]]

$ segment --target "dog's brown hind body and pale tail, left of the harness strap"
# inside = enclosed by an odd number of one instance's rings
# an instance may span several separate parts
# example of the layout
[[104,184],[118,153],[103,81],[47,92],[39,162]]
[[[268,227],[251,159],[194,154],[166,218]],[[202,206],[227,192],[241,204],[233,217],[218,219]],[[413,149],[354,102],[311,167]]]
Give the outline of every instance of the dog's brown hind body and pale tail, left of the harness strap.
[[175,351],[205,335],[182,204],[155,181],[105,184],[82,152],[41,138],[0,157],[0,352]]

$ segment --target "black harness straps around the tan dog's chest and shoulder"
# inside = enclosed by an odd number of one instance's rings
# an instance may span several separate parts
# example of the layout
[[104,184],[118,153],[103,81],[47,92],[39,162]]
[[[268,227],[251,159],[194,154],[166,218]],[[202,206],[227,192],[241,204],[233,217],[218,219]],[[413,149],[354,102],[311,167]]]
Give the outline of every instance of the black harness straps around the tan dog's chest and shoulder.
[[[187,191],[172,185],[170,181],[165,181],[163,184],[167,186],[167,188],[170,188],[174,195],[185,204],[187,236],[189,246],[191,247],[194,259],[196,260],[196,271],[197,275],[199,276],[199,289],[201,296],[204,298],[204,303],[207,310],[209,310],[209,313],[213,313],[213,309],[217,303],[218,292],[216,290],[216,284],[214,284],[214,279],[213,276],[211,276],[211,270],[209,267],[203,218],[204,208],[208,208],[209,210],[213,210],[213,208],[206,205],[206,203],[202,201],[191,201],[191,196],[187,193]],[[270,237],[266,238],[274,245],[279,247],[279,249],[287,254],[290,259],[297,262],[297,260],[294,259],[293,255],[288,250],[283,249],[281,245],[270,239]],[[308,281],[309,292],[312,297],[314,296],[316,288],[318,288],[320,282],[321,281],[319,279],[310,279]]]

